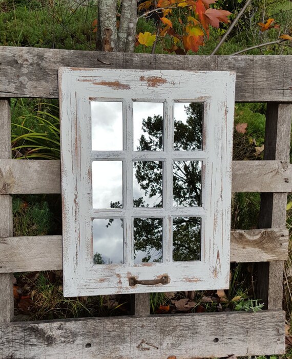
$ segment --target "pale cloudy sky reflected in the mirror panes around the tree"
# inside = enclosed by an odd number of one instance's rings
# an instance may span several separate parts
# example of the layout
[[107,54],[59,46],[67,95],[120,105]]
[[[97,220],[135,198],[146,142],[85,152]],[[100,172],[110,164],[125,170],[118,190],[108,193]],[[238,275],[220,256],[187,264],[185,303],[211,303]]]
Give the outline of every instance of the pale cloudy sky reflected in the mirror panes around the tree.
[[[175,104],[175,118],[186,121],[185,103]],[[136,102],[133,106],[134,150],[139,145],[139,138],[147,133],[141,130],[143,119],[154,115],[163,117],[163,103]],[[122,103],[92,102],[92,150],[122,150]],[[101,174],[101,175],[100,175]],[[111,201],[122,203],[122,162],[94,161],[92,164],[93,207],[110,208]],[[158,196],[149,198],[141,190],[134,171],[134,198],[143,196],[152,207],[160,200]],[[106,227],[105,219],[93,220],[93,253],[100,253],[105,262],[122,261],[122,227],[120,220],[114,220]],[[158,253],[153,255],[157,258]],[[135,262],[140,262],[144,254],[137,253]]]

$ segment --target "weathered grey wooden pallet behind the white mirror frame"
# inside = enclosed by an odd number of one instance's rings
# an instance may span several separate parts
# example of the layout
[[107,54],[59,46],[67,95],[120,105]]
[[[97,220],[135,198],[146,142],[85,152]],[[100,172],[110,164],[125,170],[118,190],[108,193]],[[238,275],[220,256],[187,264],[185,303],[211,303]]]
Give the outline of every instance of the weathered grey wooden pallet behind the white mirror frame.
[[[12,237],[16,193],[60,193],[58,161],[11,160],[11,97],[57,98],[59,66],[236,71],[236,101],[267,102],[264,161],[233,163],[233,192],[261,192],[259,230],[231,232],[231,261],[258,262],[267,310],[13,323],[13,272],[62,267],[61,236]],[[282,71],[281,69],[285,69]],[[0,53],[0,358],[177,359],[285,351],[282,276],[292,118],[292,56],[173,56],[2,47]],[[50,248],[50,251],[47,249]]]

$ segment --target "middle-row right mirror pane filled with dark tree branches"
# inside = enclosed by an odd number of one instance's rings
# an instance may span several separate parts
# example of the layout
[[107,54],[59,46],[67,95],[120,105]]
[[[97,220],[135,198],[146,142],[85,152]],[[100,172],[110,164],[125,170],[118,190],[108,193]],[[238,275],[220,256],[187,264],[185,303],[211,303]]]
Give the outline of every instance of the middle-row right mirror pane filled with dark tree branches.
[[173,163],[173,206],[201,206],[202,161]]

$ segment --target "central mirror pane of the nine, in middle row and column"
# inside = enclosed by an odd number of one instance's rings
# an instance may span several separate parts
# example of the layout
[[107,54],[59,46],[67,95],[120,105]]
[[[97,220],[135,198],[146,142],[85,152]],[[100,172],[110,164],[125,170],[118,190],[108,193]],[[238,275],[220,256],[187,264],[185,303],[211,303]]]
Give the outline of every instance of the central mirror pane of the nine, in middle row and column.
[[134,162],[134,207],[162,207],[162,162]]

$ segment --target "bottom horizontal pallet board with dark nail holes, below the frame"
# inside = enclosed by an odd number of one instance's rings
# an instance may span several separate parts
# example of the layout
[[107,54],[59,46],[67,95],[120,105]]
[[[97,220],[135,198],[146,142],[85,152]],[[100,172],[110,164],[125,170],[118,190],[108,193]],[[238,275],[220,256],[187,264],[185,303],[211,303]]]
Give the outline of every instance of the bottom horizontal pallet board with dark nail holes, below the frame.
[[191,359],[283,354],[282,310],[14,322],[0,325],[13,359]]

